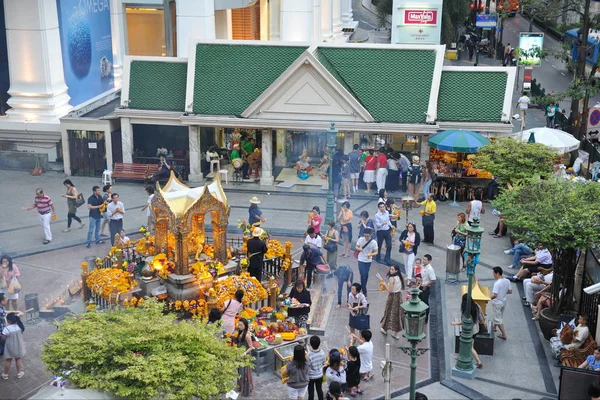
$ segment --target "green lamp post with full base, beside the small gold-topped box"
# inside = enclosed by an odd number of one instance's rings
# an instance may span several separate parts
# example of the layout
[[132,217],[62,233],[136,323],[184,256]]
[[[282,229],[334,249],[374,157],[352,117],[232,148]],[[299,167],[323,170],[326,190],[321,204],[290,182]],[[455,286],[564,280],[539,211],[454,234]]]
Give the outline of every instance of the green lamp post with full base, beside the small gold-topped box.
[[471,348],[473,346],[473,319],[471,318],[471,294],[473,291],[473,275],[475,275],[475,267],[479,262],[479,253],[481,252],[481,235],[484,229],[479,226],[479,218],[473,218],[473,222],[467,227],[467,243],[465,246],[467,276],[469,278],[469,286],[467,289],[467,304],[465,312],[462,315],[462,331],[460,334],[460,345],[458,351],[458,359],[456,367],[452,370],[452,374],[460,377],[472,379],[475,375],[473,367],[473,355]]

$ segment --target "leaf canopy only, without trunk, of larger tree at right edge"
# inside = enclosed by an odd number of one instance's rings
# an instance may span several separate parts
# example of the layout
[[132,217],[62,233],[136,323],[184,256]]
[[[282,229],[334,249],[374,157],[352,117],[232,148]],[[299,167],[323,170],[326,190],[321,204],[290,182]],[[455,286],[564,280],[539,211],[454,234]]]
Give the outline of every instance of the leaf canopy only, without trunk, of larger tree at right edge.
[[530,180],[493,201],[511,229],[550,250],[586,250],[600,243],[600,184]]

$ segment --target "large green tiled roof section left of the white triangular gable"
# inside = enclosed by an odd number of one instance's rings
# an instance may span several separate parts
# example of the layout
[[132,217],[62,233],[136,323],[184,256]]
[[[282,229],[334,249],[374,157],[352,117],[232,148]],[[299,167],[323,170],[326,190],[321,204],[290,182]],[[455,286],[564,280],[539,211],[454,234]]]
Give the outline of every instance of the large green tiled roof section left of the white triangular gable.
[[198,44],[194,113],[240,115],[306,47]]

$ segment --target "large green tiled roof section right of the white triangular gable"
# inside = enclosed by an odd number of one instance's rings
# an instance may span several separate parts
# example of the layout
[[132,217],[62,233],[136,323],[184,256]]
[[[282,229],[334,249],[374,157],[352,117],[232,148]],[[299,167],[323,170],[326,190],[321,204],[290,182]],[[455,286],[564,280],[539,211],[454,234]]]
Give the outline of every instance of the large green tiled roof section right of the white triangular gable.
[[425,122],[435,51],[322,47],[316,57],[376,122]]

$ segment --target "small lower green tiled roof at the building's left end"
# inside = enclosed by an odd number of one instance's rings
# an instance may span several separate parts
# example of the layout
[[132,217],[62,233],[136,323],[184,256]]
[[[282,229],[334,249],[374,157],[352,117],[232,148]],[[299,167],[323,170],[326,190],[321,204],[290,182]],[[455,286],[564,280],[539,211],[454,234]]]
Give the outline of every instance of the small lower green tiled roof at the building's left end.
[[187,63],[132,61],[129,75],[129,108],[185,110]]

